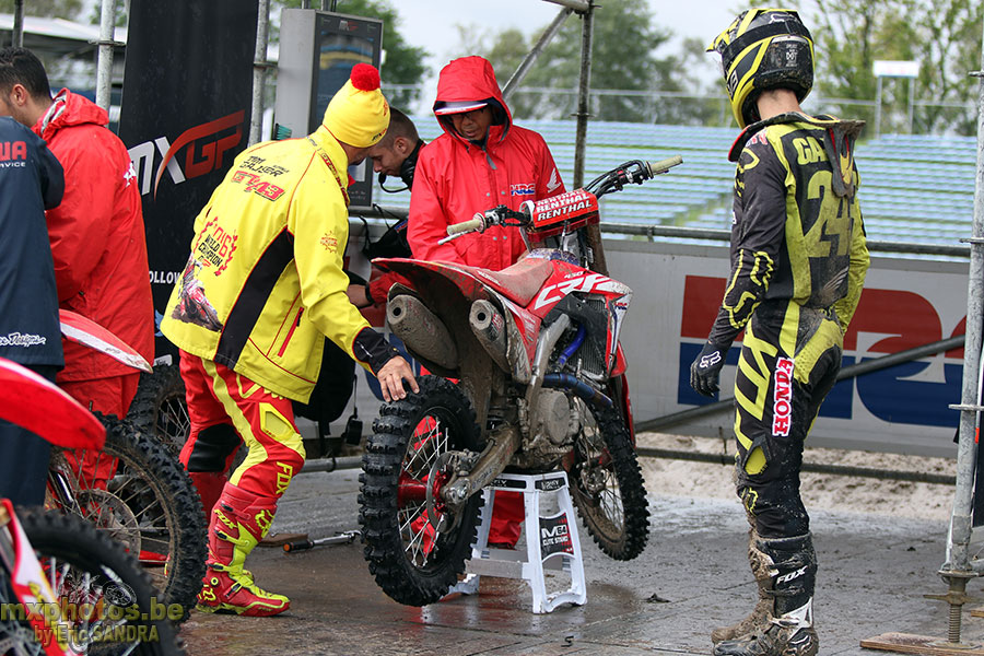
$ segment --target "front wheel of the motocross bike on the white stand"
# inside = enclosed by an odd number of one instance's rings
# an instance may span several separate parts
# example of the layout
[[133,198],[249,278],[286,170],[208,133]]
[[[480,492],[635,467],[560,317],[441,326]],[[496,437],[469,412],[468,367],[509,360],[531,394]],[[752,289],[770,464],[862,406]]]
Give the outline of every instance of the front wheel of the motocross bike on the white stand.
[[584,424],[566,467],[574,505],[601,551],[632,560],[646,547],[649,511],[629,431],[614,408],[576,402]]

